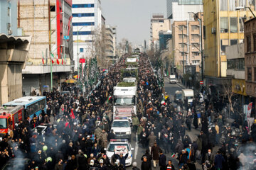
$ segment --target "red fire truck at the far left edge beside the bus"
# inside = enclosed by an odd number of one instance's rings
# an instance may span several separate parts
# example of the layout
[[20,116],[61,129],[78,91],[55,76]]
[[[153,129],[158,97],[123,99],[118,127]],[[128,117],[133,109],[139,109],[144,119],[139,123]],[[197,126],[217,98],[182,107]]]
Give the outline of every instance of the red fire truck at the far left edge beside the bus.
[[15,123],[24,119],[23,106],[0,107],[0,135],[14,129]]

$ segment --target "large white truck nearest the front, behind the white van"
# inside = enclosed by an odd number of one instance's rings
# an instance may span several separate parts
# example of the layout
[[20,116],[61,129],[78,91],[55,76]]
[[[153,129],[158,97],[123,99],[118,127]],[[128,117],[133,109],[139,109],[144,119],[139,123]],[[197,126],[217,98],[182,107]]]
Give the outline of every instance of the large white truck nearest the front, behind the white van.
[[114,86],[113,118],[128,118],[132,123],[132,113],[137,114],[137,87]]

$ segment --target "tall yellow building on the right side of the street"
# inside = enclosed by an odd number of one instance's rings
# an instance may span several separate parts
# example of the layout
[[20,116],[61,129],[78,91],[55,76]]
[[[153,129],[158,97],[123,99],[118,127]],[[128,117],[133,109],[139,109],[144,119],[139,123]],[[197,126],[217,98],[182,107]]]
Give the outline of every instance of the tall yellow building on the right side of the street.
[[[204,1],[204,78],[206,84],[214,84],[218,89],[227,78],[226,48],[244,39],[244,21],[250,18],[249,8],[236,11],[236,7],[250,7],[255,13],[255,1]],[[246,59],[245,59],[246,60]],[[220,88],[218,88],[218,86]]]

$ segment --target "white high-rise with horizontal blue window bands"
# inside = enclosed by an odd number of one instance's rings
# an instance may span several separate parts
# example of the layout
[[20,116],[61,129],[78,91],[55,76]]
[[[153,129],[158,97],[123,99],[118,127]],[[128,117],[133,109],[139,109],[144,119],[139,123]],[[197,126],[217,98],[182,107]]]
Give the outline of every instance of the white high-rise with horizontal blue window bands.
[[100,0],[73,0],[73,40],[75,69],[80,57],[95,57],[95,39],[101,38],[105,18]]

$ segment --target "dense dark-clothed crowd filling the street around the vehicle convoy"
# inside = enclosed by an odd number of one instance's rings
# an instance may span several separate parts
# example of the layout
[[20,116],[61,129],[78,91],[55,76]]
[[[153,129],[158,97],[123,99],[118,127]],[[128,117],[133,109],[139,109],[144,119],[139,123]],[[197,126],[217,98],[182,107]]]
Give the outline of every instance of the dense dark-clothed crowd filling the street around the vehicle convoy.
[[[127,155],[108,158],[104,149],[114,137],[110,130],[112,99],[107,101],[121,80],[120,69],[125,67],[126,57],[102,74],[100,86],[88,97],[73,84],[62,86],[70,95],[61,95],[58,90],[44,92],[46,112],[19,122],[1,140],[0,166],[13,158],[26,158],[31,160],[26,169],[126,169]],[[146,55],[139,58],[138,77],[137,115],[132,115],[132,130],[145,153],[141,160],[134,160],[133,170],[193,170],[196,164],[207,170],[255,169],[256,123],[250,129],[246,122],[238,123],[240,120],[227,125],[203,89],[191,105],[172,103],[167,94],[162,94]],[[48,125],[46,132],[31,132],[41,123]],[[187,135],[192,128],[201,131],[198,137]],[[139,161],[142,165],[137,167]]]

